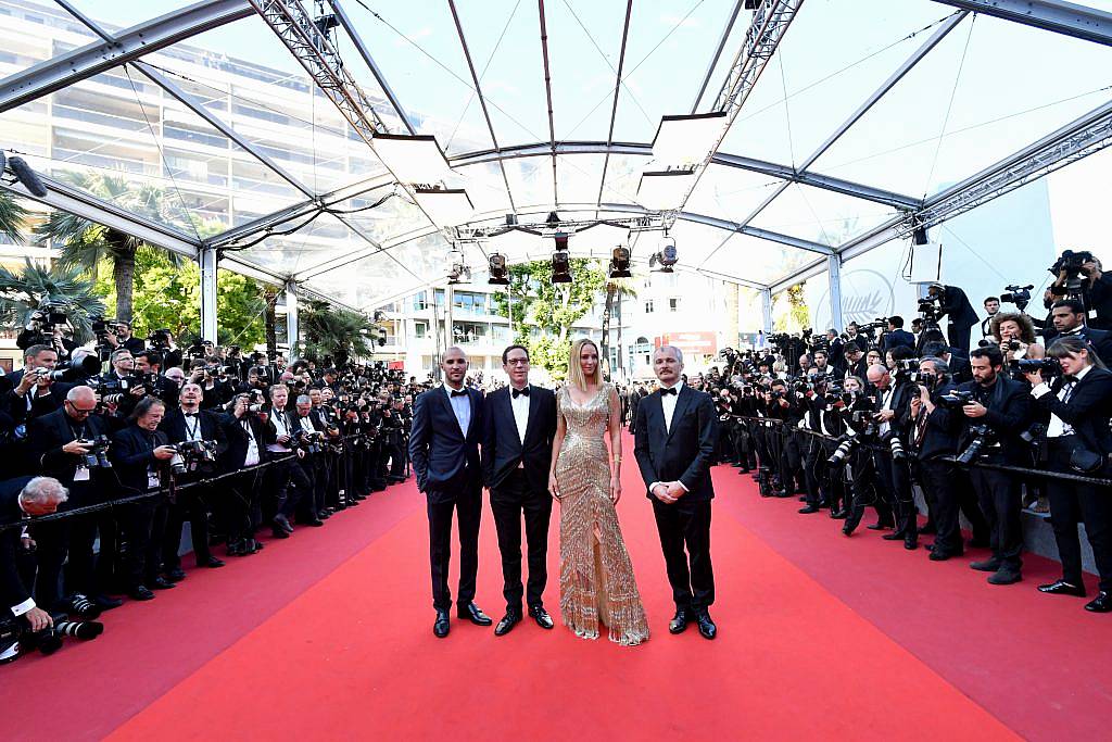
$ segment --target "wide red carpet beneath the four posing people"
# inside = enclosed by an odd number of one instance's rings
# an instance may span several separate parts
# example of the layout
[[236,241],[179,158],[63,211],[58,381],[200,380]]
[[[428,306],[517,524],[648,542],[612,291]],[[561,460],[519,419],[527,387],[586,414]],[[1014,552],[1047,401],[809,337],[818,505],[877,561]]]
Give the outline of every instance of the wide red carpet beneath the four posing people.
[[[496,639],[454,620],[435,639],[423,498],[409,484],[107,614],[92,644],[0,669],[0,702],[22,720],[7,736],[1072,739],[1100,729],[1108,696],[1092,677],[1108,666],[1110,624],[1081,602],[1034,594],[1046,565],[992,588],[962,561],[933,564],[872,533],[845,540],[825,516],[761,499],[748,477],[719,467],[722,633],[671,636],[651,507],[632,467],[623,478],[619,514],[654,632],[643,646],[532,622]],[[477,601],[497,617],[489,516],[480,548]],[[552,580],[546,603],[558,606]]]

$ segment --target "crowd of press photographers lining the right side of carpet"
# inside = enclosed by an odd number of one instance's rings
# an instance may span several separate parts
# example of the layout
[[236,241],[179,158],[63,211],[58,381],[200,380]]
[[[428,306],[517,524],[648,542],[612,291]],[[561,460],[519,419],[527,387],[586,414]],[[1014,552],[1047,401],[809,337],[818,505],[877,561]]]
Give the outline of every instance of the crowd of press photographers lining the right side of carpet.
[[1026,314],[1033,286],[986,297],[982,321],[965,291],[935,284],[912,332],[893,316],[725,350],[689,379],[717,400],[718,461],[752,473],[762,496],[802,494],[800,513],[825,512],[845,536],[871,508],[865,527],[904,548],[933,535],[931,561],[987,548],[970,567],[992,585],[1022,578],[1024,503],[1049,506],[1062,577],[1039,590],[1085,597],[1083,523],[1100,574],[1084,607],[1112,611],[1112,277],[1073,251],[1051,274],[1043,318]]

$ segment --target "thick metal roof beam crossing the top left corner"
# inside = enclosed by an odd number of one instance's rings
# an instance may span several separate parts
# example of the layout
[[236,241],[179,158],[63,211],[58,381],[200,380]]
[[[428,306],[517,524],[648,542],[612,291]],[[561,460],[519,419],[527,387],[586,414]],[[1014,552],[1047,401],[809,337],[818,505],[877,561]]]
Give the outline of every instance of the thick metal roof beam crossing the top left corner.
[[183,39],[247,18],[245,0],[211,0],[167,13],[0,80],[0,113]]

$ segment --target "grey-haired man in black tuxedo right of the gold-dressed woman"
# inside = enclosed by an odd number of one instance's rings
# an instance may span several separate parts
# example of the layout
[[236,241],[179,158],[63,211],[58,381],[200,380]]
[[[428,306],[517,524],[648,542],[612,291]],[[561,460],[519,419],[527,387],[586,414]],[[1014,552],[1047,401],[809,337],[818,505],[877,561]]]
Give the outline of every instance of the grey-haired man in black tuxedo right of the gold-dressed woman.
[[699,633],[714,639],[718,629],[708,610],[714,603],[711,464],[718,421],[711,395],[681,380],[683,368],[678,348],[664,345],[653,354],[661,388],[637,407],[634,455],[653,503],[676,603],[668,631],[678,634],[694,619]]

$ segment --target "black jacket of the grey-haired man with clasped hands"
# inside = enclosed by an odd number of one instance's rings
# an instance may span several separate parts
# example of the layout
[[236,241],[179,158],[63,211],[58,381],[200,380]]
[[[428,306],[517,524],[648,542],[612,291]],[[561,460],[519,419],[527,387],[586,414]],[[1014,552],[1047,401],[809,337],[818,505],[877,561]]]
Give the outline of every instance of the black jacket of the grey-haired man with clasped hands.
[[646,493],[653,497],[647,487],[654,482],[678,479],[687,487],[687,494],[677,504],[707,502],[714,497],[711,463],[718,439],[714,400],[705,392],[696,392],[684,384],[668,431],[662,399],[663,395],[656,390],[637,407],[634,455]]

